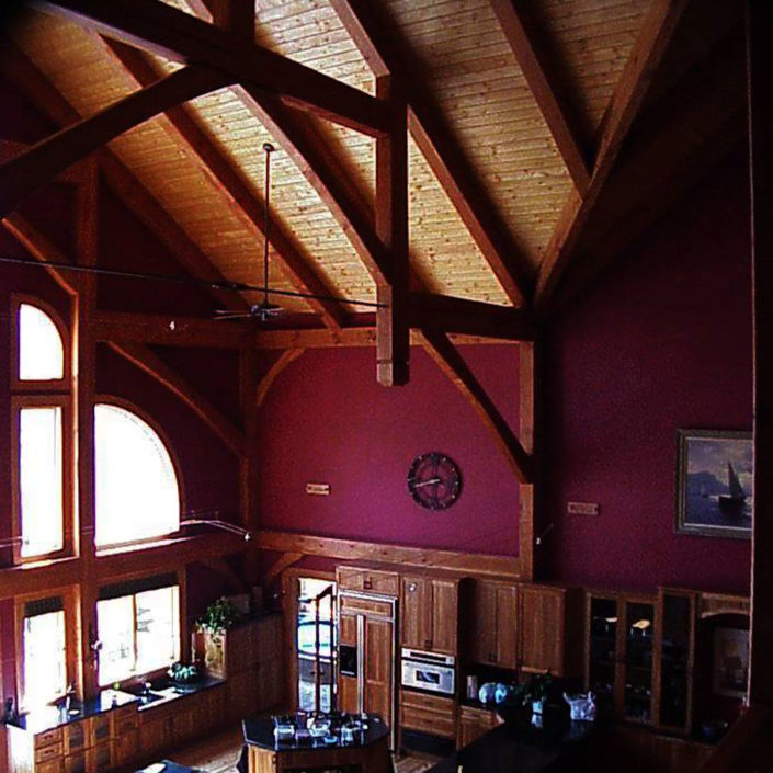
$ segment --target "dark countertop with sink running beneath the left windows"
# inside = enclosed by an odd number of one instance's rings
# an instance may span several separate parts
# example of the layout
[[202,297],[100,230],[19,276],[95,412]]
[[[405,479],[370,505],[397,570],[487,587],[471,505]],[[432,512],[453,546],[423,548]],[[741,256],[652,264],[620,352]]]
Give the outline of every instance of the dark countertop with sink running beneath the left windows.
[[170,684],[158,690],[151,689],[151,693],[155,694],[151,701],[121,690],[102,690],[94,698],[72,702],[69,712],[64,707],[44,706],[22,714],[15,721],[9,724],[33,734],[45,732],[129,704],[137,704],[140,712],[152,709],[156,706],[166,706],[185,695],[193,695],[223,683],[221,679],[205,677],[198,682],[185,686]]

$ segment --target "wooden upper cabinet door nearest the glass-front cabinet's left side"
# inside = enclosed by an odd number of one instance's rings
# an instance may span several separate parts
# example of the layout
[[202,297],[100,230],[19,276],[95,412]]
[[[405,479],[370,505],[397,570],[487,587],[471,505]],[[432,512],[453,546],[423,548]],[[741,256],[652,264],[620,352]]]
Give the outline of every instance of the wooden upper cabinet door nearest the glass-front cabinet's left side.
[[521,587],[521,667],[564,675],[565,598],[553,588]]

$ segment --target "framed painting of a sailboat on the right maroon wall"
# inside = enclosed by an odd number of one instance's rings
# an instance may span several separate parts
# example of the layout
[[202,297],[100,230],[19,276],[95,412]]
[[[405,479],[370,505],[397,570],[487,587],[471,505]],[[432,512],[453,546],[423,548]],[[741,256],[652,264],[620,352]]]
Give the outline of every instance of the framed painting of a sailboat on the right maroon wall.
[[751,432],[677,431],[678,534],[751,538]]

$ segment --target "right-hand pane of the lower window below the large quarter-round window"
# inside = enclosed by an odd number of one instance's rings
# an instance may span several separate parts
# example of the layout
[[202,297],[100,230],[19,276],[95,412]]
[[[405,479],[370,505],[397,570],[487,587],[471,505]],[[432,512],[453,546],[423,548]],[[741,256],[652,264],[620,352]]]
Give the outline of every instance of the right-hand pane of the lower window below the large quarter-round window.
[[138,673],[163,668],[180,658],[179,595],[178,586],[135,595]]

